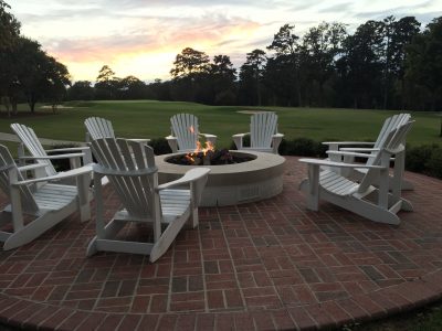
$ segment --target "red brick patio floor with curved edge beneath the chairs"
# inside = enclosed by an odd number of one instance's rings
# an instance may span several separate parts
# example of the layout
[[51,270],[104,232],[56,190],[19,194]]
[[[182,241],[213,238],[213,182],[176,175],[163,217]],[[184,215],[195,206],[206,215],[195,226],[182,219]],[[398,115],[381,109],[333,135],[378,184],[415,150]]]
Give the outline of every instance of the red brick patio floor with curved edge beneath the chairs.
[[[375,224],[332,204],[309,212],[287,158],[278,196],[200,209],[156,264],[85,257],[93,221],[65,220],[0,252],[0,322],[60,330],[315,329],[366,321],[442,297],[442,182],[407,173],[414,212]],[[117,200],[107,189],[108,215]],[[6,203],[4,196],[0,197]],[[146,233],[128,228],[127,236]]]

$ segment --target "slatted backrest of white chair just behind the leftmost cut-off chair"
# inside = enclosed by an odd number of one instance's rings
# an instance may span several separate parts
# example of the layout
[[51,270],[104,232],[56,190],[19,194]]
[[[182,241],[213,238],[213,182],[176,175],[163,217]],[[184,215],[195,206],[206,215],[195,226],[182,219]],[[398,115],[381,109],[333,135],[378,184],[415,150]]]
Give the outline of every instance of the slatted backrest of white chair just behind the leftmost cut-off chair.
[[[15,132],[15,135],[20,138],[22,143],[29,150],[31,156],[33,157],[46,157],[48,153],[41,145],[39,138],[36,137],[34,130],[30,127],[20,125],[20,124],[11,124],[11,129]],[[44,170],[48,175],[56,174],[56,170],[50,160],[36,160],[38,163],[44,164]]]

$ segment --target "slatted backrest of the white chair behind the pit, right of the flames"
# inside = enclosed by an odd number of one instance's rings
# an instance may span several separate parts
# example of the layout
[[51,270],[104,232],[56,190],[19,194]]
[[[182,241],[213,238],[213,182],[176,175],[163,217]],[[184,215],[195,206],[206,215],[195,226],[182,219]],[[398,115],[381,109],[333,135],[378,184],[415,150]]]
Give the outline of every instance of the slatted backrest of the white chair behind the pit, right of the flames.
[[250,120],[250,145],[255,148],[270,148],[272,136],[277,131],[277,115],[263,111],[252,115]]

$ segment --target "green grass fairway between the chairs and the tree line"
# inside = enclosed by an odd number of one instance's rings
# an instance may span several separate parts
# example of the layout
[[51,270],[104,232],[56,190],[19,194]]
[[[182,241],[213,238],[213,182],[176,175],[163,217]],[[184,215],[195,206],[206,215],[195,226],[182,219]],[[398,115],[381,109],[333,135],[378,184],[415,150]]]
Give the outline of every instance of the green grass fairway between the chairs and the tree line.
[[[31,126],[42,138],[84,141],[84,120],[91,116],[112,120],[117,137],[161,138],[170,134],[169,118],[178,113],[198,116],[200,131],[218,136],[218,147],[229,147],[234,134],[248,132],[250,115],[242,110],[272,110],[278,115],[280,132],[286,139],[311,138],[316,141],[373,140],[383,120],[400,111],[355,110],[326,108],[283,108],[207,106],[192,103],[155,100],[82,102],[67,103],[65,108],[52,114],[39,108],[34,115],[21,105],[19,116],[8,118],[1,113],[0,131],[11,132],[9,125],[20,122]],[[414,127],[408,136],[411,146],[440,143],[441,114],[412,113]]]

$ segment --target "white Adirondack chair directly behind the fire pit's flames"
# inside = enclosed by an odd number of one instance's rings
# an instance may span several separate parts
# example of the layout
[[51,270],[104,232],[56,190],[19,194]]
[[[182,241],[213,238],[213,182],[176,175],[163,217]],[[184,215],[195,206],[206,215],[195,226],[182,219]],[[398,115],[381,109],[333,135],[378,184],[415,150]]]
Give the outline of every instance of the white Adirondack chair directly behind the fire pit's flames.
[[199,131],[198,117],[192,114],[173,115],[170,118],[170,131],[166,139],[173,153],[196,150],[200,136],[212,146],[217,143],[217,136]]

